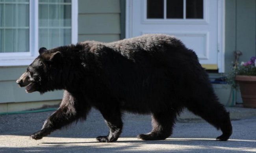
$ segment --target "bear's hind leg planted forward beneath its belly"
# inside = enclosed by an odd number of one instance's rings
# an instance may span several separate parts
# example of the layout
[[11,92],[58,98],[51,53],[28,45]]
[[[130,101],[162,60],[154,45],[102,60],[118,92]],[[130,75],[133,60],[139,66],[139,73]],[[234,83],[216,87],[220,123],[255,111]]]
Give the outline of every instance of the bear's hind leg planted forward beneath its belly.
[[173,133],[176,120],[175,111],[152,113],[152,131],[148,134],[140,134],[142,140],[164,140]]

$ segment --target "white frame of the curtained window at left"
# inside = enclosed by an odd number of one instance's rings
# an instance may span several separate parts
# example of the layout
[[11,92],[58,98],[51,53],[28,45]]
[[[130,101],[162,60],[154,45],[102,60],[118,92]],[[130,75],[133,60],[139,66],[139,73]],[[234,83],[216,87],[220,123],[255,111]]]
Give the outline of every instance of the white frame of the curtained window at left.
[[[71,43],[78,42],[78,0],[71,1]],[[38,0],[30,0],[30,39],[28,52],[0,53],[0,66],[28,66],[38,53]]]

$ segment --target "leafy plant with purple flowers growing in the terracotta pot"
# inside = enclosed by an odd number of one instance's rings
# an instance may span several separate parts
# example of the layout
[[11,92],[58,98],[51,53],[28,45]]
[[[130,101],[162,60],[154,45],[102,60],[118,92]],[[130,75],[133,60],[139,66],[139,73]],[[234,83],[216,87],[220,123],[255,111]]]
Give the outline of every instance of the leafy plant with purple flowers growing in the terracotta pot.
[[256,76],[256,57],[252,56],[248,62],[236,62],[231,71],[226,76],[228,84],[237,89],[238,84],[235,80],[237,75]]

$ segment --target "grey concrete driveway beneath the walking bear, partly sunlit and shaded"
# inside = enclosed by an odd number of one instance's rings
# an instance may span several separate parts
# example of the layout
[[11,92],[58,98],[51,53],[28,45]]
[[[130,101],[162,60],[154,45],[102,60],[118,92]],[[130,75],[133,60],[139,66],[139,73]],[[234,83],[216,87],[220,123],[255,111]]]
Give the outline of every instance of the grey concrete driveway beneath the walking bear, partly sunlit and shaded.
[[166,140],[143,141],[136,136],[151,130],[150,115],[125,113],[123,133],[117,142],[100,143],[95,138],[106,135],[108,127],[101,114],[93,109],[85,122],[72,124],[41,140],[30,139],[28,135],[41,129],[44,120],[51,113],[52,111],[0,116],[0,153],[256,152],[255,116],[233,120],[233,135],[226,142],[216,141],[215,138],[221,135],[221,131],[193,115],[191,118],[179,118],[172,137]]

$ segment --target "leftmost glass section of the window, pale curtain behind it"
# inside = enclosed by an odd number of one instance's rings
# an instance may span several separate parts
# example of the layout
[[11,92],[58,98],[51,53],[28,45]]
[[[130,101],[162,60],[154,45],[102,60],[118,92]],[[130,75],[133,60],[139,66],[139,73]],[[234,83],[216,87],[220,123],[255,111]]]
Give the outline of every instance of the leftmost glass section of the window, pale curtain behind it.
[[29,0],[5,0],[0,4],[0,53],[29,51]]

